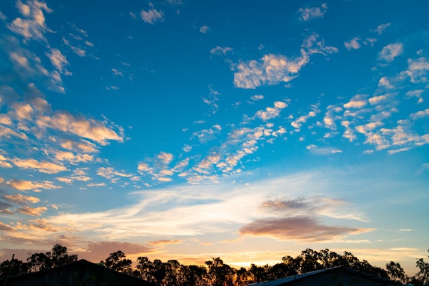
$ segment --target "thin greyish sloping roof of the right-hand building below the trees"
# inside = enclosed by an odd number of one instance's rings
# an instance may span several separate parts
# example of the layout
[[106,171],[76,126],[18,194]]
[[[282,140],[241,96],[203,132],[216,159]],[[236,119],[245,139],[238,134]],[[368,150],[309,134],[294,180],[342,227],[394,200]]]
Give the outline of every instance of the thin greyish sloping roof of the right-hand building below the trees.
[[369,274],[369,273],[365,273],[365,272],[360,272],[358,270],[354,270],[352,268],[346,268],[346,267],[334,267],[334,268],[326,268],[326,269],[322,269],[322,270],[316,270],[316,271],[312,271],[312,272],[306,272],[303,274],[299,274],[299,275],[294,275],[294,276],[287,276],[284,278],[280,278],[280,279],[276,279],[276,280],[272,280],[272,281],[265,281],[265,282],[260,282],[260,283],[254,283],[254,284],[250,284],[253,286],[280,286],[280,285],[284,285],[286,283],[292,282],[292,281],[299,281],[302,278],[306,278],[308,276],[315,276],[318,274],[322,274],[322,273],[328,273],[328,272],[334,272],[334,271],[343,271],[343,272],[347,272],[350,274],[355,274],[357,276],[362,276],[365,277],[369,280],[373,280],[373,281],[379,281],[379,282],[384,282],[384,283],[389,283],[388,279],[385,278],[381,278],[379,276],[373,275],[373,274]]

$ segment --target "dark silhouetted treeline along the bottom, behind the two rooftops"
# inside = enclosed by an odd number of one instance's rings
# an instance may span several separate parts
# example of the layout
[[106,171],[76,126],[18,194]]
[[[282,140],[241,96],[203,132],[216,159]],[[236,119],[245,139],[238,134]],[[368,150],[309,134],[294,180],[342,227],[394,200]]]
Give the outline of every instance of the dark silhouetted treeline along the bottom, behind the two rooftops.
[[[3,261],[0,264],[0,278],[54,268],[74,261],[77,261],[77,255],[69,255],[66,247],[56,244],[52,251],[34,253],[27,258],[26,262],[17,259]],[[106,268],[162,286],[241,286],[337,266],[388,278],[398,284],[425,285],[429,282],[429,263],[424,259],[416,262],[419,272],[413,277],[408,277],[400,263],[391,261],[386,264],[385,269],[382,269],[371,265],[366,260],[360,261],[350,252],[340,255],[329,249],[315,251],[307,248],[297,257],[289,255],[283,257],[282,261],[275,265],[251,264],[247,269],[232,268],[223,263],[219,257],[206,261],[205,265],[182,265],[177,260],[162,262],[160,259],[150,261],[147,257],[138,257],[136,267],[133,268],[132,261],[127,259],[121,250],[112,252],[100,263]]]

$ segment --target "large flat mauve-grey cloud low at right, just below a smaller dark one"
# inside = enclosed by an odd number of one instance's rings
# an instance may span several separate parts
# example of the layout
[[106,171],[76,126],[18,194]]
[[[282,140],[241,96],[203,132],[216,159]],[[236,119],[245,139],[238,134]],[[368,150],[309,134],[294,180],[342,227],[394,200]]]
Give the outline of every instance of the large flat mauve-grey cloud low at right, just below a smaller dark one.
[[272,218],[255,220],[243,226],[240,235],[272,237],[280,240],[304,242],[335,241],[371,229],[355,229],[347,226],[328,226],[315,218]]

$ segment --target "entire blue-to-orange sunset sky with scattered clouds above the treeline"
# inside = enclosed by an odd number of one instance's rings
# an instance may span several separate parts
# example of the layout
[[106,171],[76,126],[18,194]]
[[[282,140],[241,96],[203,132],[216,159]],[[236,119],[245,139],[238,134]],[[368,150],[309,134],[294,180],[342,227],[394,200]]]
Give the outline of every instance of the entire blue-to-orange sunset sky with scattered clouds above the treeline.
[[427,1],[0,3],[0,259],[249,267],[429,237]]

